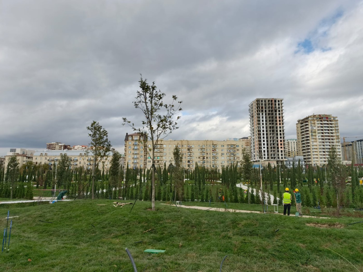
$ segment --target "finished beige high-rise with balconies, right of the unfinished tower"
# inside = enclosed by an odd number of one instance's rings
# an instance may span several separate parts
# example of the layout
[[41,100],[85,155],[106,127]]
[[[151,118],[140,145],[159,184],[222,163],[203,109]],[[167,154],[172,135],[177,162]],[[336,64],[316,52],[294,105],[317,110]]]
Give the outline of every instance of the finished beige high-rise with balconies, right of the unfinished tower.
[[329,150],[335,146],[338,157],[342,158],[337,116],[314,114],[299,119],[296,124],[299,155],[306,164],[327,165]]

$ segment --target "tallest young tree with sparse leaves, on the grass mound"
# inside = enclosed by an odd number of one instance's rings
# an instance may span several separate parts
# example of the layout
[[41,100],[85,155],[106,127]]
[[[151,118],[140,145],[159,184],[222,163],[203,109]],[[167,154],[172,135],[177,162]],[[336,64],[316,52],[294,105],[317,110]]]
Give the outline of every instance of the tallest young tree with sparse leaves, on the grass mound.
[[[165,104],[163,99],[166,95],[156,89],[155,82],[149,85],[146,79],[142,77],[139,80],[139,87],[140,90],[136,91],[134,107],[140,109],[144,115],[145,119],[142,121],[142,128],[136,128],[135,124],[131,123],[127,118],[122,119],[123,125],[129,125],[133,131],[147,136],[151,140],[151,147],[146,149],[146,152],[152,161],[151,208],[155,210],[155,148],[172,131],[178,129],[176,121],[180,116],[175,117],[175,115],[181,111],[180,105],[182,102],[177,102],[178,97],[173,95],[171,104]],[[177,103],[176,106],[175,103]]]

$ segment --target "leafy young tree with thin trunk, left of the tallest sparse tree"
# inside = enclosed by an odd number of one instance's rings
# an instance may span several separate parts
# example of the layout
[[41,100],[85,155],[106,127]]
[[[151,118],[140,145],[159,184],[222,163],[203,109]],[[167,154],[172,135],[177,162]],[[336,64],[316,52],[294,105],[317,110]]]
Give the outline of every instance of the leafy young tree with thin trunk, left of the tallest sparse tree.
[[109,155],[111,143],[108,139],[109,133],[96,121],[92,121],[87,127],[88,136],[91,138],[90,149],[93,154],[92,164],[92,199],[94,199],[95,173],[98,165]]

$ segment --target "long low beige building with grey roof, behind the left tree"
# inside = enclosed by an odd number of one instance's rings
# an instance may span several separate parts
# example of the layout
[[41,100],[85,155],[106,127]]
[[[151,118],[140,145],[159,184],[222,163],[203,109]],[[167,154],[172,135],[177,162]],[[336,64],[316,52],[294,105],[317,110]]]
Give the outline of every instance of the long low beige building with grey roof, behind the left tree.
[[[94,161],[93,153],[89,151],[79,150],[45,150],[36,151],[33,154],[33,162],[36,165],[47,164],[49,169],[55,167],[58,161],[61,159],[61,155],[66,154],[69,157],[70,167],[77,168],[82,166],[85,169],[91,169]],[[111,167],[111,159],[113,153],[109,152],[107,157],[99,163],[99,168],[102,169],[103,165],[105,170]]]

